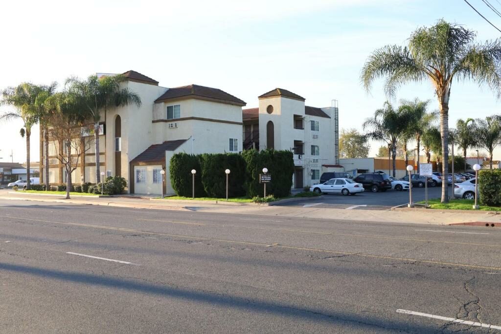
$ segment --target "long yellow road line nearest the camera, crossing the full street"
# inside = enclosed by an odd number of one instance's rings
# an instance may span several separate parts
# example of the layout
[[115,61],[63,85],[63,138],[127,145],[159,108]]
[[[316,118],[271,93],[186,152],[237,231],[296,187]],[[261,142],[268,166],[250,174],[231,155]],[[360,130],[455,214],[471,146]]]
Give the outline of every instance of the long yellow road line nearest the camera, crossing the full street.
[[[123,228],[123,227],[91,225],[91,224],[83,224],[83,223],[70,223],[70,222],[51,221],[51,220],[42,220],[42,219],[11,217],[11,216],[0,216],[0,217],[15,218],[15,219],[24,219],[24,220],[30,220],[30,221],[40,221],[40,222],[46,222],[46,223],[56,223],[56,224],[63,224],[63,225],[104,228],[104,229],[110,229],[110,230],[118,230],[118,231],[126,231],[126,232],[142,233],[142,234],[157,234],[157,235],[165,235],[165,236],[178,237],[178,238],[191,238],[191,239],[196,239],[196,240],[220,241],[220,242],[237,243],[237,244],[245,244],[245,245],[255,245],[255,246],[272,246],[270,244],[262,243],[262,242],[250,242],[250,241],[237,241],[237,240],[216,239],[216,238],[204,238],[204,237],[197,237],[197,236],[191,236],[191,235],[180,235],[180,234],[170,234],[170,233],[162,233],[162,232],[140,231],[140,230],[134,230],[134,229],[130,229],[130,228]],[[407,258],[407,257],[395,257],[395,256],[374,255],[374,254],[365,254],[365,253],[343,252],[343,251],[328,250],[328,249],[319,249],[319,248],[286,246],[286,245],[280,245],[280,244],[274,244],[273,246],[274,247],[279,247],[279,248],[284,248],[284,249],[306,250],[306,251],[324,252],[324,253],[330,253],[330,254],[353,255],[353,256],[361,256],[361,257],[369,257],[369,258],[398,260],[398,261],[406,261],[406,262],[430,263],[430,264],[439,264],[439,265],[459,266],[459,267],[465,267],[465,268],[475,268],[475,269],[487,269],[487,270],[498,270],[498,271],[501,271],[501,267],[492,267],[492,266],[485,266],[485,265],[474,265],[474,264],[464,264],[464,263],[444,262],[444,261],[433,261],[433,260],[421,260],[421,259]]]

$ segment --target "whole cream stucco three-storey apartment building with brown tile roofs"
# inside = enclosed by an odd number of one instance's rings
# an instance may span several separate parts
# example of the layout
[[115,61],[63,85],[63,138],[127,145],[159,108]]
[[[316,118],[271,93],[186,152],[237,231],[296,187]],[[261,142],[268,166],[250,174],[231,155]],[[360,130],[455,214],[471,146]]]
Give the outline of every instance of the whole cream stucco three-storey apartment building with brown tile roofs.
[[[98,74],[106,75],[113,74]],[[245,102],[220,89],[198,85],[161,87],[158,81],[135,71],[123,76],[127,79],[123,87],[137,93],[142,104],[112,108],[101,115],[99,172],[124,177],[130,193],[160,194],[163,187],[165,194],[173,194],[169,162],[178,152],[292,150],[296,187],[313,184],[324,170],[338,165],[335,103],[329,108],[308,107],[301,96],[275,89],[259,97],[259,108],[242,112]],[[96,182],[94,134],[86,135],[81,145],[90,143],[90,150],[72,174],[74,184]],[[41,135],[41,183],[45,177],[43,141]],[[51,185],[63,184],[67,179],[57,159],[62,151],[60,145],[49,141]],[[164,181],[162,169],[166,172]]]

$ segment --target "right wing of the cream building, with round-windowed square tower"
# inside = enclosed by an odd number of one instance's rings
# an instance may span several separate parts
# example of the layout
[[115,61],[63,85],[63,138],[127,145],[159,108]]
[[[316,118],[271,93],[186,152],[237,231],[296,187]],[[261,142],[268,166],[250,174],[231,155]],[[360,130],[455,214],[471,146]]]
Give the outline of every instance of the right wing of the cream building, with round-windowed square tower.
[[294,188],[316,184],[323,172],[342,170],[338,161],[338,107],[305,105],[305,98],[276,88],[259,96],[259,107],[244,109],[243,148],[294,152]]

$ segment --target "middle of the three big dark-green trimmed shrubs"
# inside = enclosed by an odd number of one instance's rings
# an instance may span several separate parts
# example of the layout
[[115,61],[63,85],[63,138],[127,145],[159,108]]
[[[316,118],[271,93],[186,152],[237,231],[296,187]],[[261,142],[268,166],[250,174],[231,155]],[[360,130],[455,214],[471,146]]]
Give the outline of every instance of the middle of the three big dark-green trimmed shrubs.
[[229,169],[228,196],[245,195],[245,161],[236,153],[202,154],[200,157],[202,185],[208,197],[226,197],[226,173]]

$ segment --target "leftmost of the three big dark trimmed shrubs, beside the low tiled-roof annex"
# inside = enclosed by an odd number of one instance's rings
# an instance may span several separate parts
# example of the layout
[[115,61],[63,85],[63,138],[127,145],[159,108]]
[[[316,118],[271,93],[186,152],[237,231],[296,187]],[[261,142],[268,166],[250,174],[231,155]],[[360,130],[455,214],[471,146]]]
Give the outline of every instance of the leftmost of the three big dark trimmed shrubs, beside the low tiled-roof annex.
[[202,185],[202,170],[200,168],[199,156],[192,154],[177,153],[170,159],[169,174],[172,189],[174,189],[178,196],[191,197],[192,169],[196,170],[195,196],[204,197],[205,191]]

